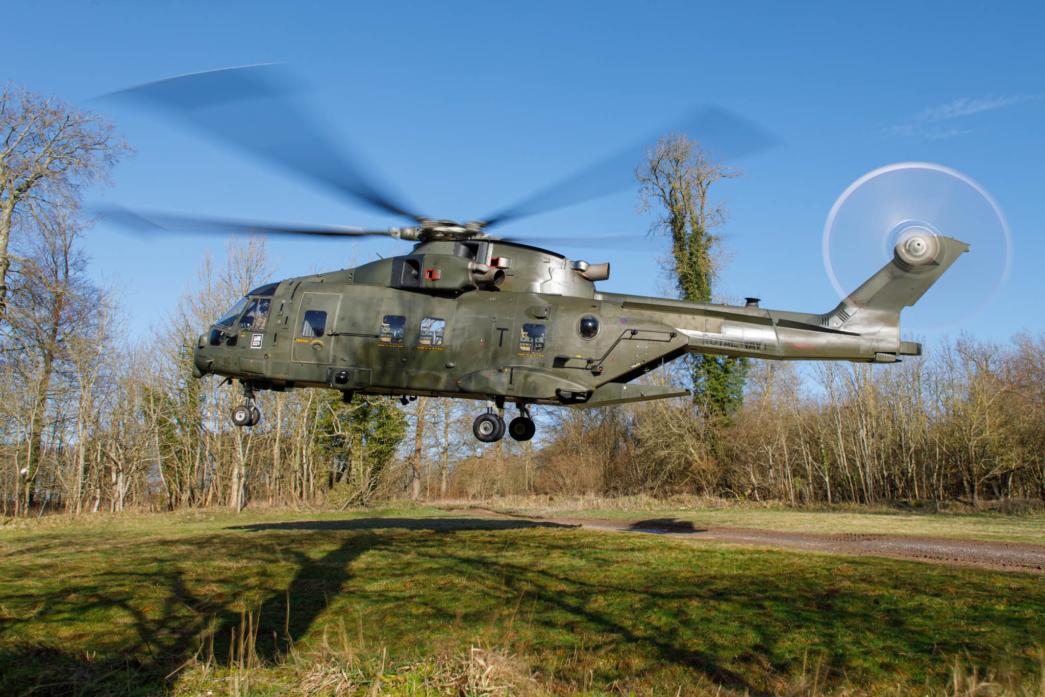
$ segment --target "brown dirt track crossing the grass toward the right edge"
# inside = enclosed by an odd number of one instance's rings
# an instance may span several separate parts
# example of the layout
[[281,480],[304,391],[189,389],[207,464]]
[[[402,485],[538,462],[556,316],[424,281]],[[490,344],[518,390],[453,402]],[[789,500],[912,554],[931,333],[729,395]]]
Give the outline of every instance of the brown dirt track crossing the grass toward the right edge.
[[764,544],[837,554],[918,559],[945,564],[962,564],[988,568],[1045,573],[1045,547],[1024,542],[991,542],[949,537],[919,537],[884,534],[839,534],[781,532],[753,528],[695,528],[686,520],[651,518],[633,524],[617,524],[594,518],[529,517],[508,515],[488,509],[455,511],[580,526],[596,530],[635,532],[688,540],[714,540],[738,544]]

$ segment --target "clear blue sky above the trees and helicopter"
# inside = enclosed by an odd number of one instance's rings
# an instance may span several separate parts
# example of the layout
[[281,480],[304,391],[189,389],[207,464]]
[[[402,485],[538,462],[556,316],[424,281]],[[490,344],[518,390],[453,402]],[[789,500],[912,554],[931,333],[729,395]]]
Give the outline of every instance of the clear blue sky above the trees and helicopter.
[[[472,219],[718,103],[781,144],[746,158],[722,185],[733,260],[720,291],[763,306],[825,311],[837,302],[821,257],[835,200],[875,168],[927,161],[963,172],[997,200],[1014,263],[998,293],[973,242],[904,313],[933,341],[967,329],[1002,340],[1041,331],[1045,189],[1045,6],[1041,3],[698,2],[48,2],[8,5],[5,77],[86,107],[91,97],[169,75],[278,62],[307,77],[301,103],[422,212]],[[386,228],[403,220],[178,123],[100,107],[137,148],[107,203],[194,214]],[[699,134],[693,134],[699,137]],[[626,172],[625,172],[626,175]],[[526,218],[506,235],[634,234],[629,189]],[[946,232],[946,231],[945,231]],[[223,240],[144,240],[110,225],[90,235],[94,273],[126,286],[133,329],[165,315],[203,251]],[[387,240],[270,240],[281,276],[401,249]],[[554,246],[549,246],[554,247]],[[605,291],[656,295],[656,245],[586,250],[610,261]],[[663,252],[661,252],[663,253]],[[874,255],[867,255],[873,257]],[[981,257],[981,259],[986,256]],[[865,276],[885,258],[858,258]],[[960,273],[959,273],[960,270]],[[982,292],[980,291],[982,288]]]

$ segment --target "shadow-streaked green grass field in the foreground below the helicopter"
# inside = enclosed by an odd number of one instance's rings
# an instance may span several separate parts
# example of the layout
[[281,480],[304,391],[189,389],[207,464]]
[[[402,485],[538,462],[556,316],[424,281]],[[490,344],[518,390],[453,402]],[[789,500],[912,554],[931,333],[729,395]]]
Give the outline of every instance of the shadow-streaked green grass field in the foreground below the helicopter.
[[1043,617],[1041,576],[433,509],[0,531],[4,695],[1045,695]]

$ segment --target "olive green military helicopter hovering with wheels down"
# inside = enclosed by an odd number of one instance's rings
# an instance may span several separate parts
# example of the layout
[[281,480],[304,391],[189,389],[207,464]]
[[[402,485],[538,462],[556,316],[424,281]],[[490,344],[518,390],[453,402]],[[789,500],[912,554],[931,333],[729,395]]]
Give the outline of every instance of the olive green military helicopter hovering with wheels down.
[[[262,67],[263,68],[263,67]],[[389,230],[205,219],[110,210],[139,229],[327,236],[385,235],[415,241],[409,254],[272,282],[254,288],[202,333],[192,374],[242,389],[232,410],[256,425],[257,391],[297,388],[355,394],[486,401],[475,438],[534,436],[533,405],[577,409],[690,394],[632,381],[687,353],[774,359],[897,363],[920,355],[901,341],[900,311],[912,305],[969,246],[920,226],[900,231],[892,259],[823,313],[764,309],[606,293],[608,263],[568,259],[534,240],[490,236],[507,219],[562,205],[562,185],[483,222],[456,223],[411,212],[333,155],[259,67],[193,73],[131,88],[118,96],[158,103],[343,194],[412,218]],[[242,118],[263,101],[278,137],[252,133]],[[706,115],[705,115],[706,116]],[[725,117],[732,133],[743,130]],[[713,111],[709,121],[723,121]],[[268,121],[273,127],[272,119]],[[752,135],[753,134],[753,135]],[[758,141],[750,129],[748,141]],[[583,177],[581,179],[584,179]],[[506,424],[501,413],[515,404]]]

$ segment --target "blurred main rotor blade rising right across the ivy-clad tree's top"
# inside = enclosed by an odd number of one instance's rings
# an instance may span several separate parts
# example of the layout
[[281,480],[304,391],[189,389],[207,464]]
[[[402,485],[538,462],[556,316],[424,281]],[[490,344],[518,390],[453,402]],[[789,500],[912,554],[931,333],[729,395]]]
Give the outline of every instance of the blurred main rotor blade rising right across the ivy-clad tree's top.
[[715,157],[724,160],[751,155],[779,142],[773,134],[740,114],[721,107],[701,107],[679,119],[676,124],[652,133],[605,160],[484,218],[486,227],[527,215],[547,213],[632,186],[634,168],[646,157],[647,148],[653,147],[665,133],[672,131],[688,134],[700,141]]

